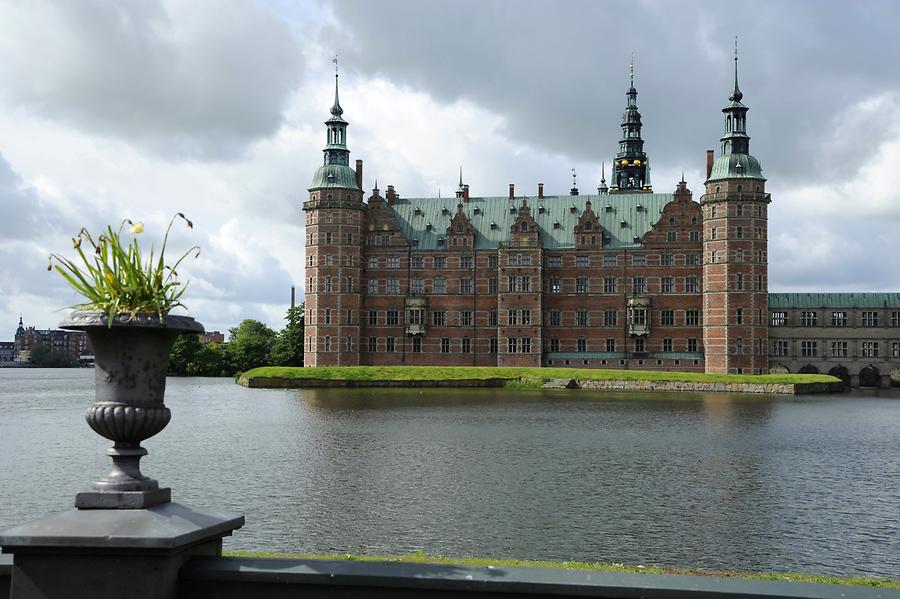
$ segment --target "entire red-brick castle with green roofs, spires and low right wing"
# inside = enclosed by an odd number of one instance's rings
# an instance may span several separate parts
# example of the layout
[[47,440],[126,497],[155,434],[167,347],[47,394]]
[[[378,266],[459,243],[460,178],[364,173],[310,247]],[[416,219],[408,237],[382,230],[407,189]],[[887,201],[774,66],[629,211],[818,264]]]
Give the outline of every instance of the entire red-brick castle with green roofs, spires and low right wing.
[[[736,59],[735,59],[736,60]],[[307,366],[479,365],[831,373],[888,384],[900,293],[769,293],[772,197],[737,62],[703,193],[650,183],[634,82],[596,194],[362,189],[338,100],[306,214]],[[713,115],[710,115],[712,118]],[[670,188],[671,189],[671,188]]]

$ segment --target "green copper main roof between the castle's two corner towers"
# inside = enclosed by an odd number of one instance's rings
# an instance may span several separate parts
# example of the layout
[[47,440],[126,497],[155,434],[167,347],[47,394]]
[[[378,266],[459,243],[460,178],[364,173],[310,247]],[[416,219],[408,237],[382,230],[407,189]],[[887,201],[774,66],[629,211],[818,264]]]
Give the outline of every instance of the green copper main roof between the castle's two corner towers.
[[[634,238],[643,237],[659,220],[663,207],[673,200],[668,193],[617,193],[610,195],[547,196],[543,199],[525,198],[541,233],[544,248],[574,248],[575,225],[584,212],[585,203],[600,221],[604,234],[610,237],[606,248],[635,248]],[[508,197],[470,198],[463,204],[463,212],[475,228],[475,249],[492,249],[509,239],[523,198],[510,201]],[[447,237],[447,227],[456,214],[456,198],[401,198],[391,204],[391,210],[415,250],[446,249],[438,239]],[[510,206],[515,210],[510,210]],[[541,212],[540,207],[544,210]],[[572,210],[575,206],[575,210]],[[609,206],[607,212],[606,207]],[[640,206],[640,209],[638,209]],[[419,212],[416,213],[418,208]],[[444,214],[446,211],[446,214]],[[476,213],[477,211],[477,213]],[[624,226],[622,221],[625,222]],[[494,227],[491,226],[494,223]],[[555,223],[559,223],[558,226]],[[431,230],[428,230],[431,224]],[[600,234],[599,232],[597,233]],[[445,241],[446,244],[446,241]]]

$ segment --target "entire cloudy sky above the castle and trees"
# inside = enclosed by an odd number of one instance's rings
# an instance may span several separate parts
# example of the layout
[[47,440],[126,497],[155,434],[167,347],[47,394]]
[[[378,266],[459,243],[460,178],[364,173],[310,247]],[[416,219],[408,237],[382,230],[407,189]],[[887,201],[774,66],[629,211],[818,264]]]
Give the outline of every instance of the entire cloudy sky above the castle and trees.
[[[208,329],[280,328],[341,62],[351,159],[407,197],[595,188],[628,63],[657,191],[705,151],[740,35],[769,179],[773,291],[900,289],[896,2],[0,0],[0,340],[76,301],[46,271],[82,227],[175,212]],[[177,248],[176,248],[177,249]]]

